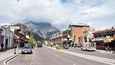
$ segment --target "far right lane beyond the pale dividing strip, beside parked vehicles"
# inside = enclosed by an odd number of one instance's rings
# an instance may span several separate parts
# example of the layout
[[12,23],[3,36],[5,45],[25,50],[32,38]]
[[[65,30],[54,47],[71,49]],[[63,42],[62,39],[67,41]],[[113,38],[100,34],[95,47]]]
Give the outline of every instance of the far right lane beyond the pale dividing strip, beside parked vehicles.
[[66,51],[72,51],[76,53],[82,53],[82,54],[94,55],[94,56],[99,56],[99,57],[104,57],[104,58],[109,58],[109,59],[115,59],[115,54],[101,53],[98,51],[81,51],[80,48],[69,48],[69,49],[66,49]]

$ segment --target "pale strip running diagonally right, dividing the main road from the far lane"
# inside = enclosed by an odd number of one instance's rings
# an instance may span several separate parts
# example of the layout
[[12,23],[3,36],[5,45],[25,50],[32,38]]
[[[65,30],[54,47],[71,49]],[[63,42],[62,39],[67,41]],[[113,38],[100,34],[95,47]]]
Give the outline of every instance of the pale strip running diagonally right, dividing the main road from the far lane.
[[[48,47],[48,48],[52,49],[51,47]],[[53,49],[53,50],[56,50],[56,49]],[[56,50],[56,51],[59,51],[59,50]],[[89,59],[89,60],[92,60],[92,61],[101,62],[101,63],[104,63],[104,64],[115,65],[115,59],[109,59],[109,58],[93,56],[93,55],[88,55],[88,54],[82,54],[82,53],[66,51],[66,50],[59,51],[59,52],[67,53],[67,54],[70,54],[70,55],[73,55],[73,56]]]

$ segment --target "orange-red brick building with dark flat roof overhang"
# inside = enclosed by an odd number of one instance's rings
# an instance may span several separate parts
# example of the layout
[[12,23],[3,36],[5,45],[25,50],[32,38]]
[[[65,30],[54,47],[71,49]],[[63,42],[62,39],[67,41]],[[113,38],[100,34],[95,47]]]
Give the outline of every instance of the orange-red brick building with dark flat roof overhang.
[[74,40],[74,44],[78,47],[81,46],[82,42],[82,35],[84,30],[90,30],[89,25],[69,25],[68,34]]

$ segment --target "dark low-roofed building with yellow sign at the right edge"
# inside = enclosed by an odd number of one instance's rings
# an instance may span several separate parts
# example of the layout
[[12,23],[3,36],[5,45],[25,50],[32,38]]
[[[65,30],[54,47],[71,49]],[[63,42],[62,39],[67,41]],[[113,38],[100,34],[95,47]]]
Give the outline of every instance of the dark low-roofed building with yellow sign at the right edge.
[[106,49],[108,46],[115,49],[115,28],[96,31],[93,34],[98,49]]

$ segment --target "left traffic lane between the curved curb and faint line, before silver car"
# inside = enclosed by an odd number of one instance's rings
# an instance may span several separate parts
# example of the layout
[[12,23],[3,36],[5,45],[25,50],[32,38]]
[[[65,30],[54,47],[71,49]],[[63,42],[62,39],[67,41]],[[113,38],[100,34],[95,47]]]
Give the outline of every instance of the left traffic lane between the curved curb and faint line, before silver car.
[[16,58],[10,60],[8,65],[30,65],[33,54],[21,54]]

